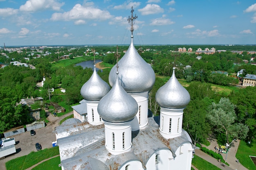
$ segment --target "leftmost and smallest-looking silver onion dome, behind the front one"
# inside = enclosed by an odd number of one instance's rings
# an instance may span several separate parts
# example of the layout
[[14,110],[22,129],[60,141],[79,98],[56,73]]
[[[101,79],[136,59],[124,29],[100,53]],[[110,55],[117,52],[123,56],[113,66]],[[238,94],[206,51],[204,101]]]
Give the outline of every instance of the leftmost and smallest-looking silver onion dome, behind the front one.
[[81,95],[87,101],[100,101],[109,91],[110,86],[97,74],[96,66],[94,65],[92,76],[81,88]]

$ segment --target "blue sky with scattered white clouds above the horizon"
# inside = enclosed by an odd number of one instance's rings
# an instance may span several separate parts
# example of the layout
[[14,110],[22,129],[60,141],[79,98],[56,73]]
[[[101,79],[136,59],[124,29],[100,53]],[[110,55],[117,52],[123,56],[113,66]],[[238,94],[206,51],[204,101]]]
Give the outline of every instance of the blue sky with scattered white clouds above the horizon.
[[256,44],[255,0],[0,0],[0,46]]

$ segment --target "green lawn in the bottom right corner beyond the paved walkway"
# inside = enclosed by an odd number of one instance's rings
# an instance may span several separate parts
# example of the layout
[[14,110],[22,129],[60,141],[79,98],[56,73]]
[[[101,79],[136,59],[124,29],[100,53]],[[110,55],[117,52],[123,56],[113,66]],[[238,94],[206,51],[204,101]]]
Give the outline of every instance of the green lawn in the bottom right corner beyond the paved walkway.
[[238,150],[236,152],[236,158],[239,162],[249,170],[256,170],[252,159],[249,156],[256,156],[255,143],[248,144],[245,141],[240,141]]

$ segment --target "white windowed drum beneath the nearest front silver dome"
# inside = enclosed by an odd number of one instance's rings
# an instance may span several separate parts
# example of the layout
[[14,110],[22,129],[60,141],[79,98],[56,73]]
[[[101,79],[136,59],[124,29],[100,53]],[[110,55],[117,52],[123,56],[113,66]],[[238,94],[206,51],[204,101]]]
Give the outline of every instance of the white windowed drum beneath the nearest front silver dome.
[[106,148],[111,154],[128,152],[132,147],[131,121],[124,123],[105,122],[105,138]]

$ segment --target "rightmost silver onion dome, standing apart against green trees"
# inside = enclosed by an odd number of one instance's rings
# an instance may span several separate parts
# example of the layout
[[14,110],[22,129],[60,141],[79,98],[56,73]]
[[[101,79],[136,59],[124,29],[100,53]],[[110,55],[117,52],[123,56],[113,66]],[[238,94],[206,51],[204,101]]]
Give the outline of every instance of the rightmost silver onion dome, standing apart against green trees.
[[180,84],[175,77],[175,67],[171,78],[157,90],[155,99],[160,107],[170,109],[182,109],[189,104],[189,92]]

